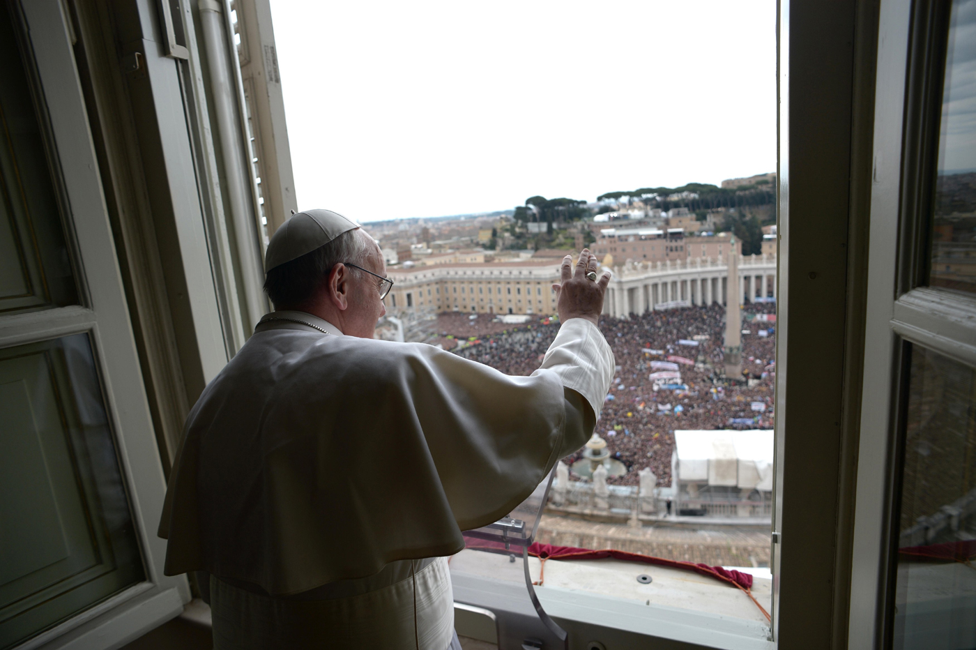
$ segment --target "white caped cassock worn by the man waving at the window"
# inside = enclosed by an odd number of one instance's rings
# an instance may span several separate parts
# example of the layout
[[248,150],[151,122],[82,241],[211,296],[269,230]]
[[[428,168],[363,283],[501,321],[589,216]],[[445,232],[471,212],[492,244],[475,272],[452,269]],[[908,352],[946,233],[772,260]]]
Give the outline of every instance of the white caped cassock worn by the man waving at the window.
[[444,650],[446,556],[583,446],[613,374],[583,318],[509,377],[272,312],[189,414],[159,525],[166,574],[211,574],[217,650]]

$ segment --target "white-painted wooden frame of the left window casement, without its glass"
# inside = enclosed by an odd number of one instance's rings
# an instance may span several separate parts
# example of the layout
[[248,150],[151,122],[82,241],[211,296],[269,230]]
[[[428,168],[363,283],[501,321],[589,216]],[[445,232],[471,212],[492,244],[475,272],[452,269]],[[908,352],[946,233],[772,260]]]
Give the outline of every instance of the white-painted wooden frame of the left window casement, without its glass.
[[102,195],[102,179],[60,0],[20,5],[33,51],[66,198],[68,240],[82,305],[0,319],[0,346],[87,334],[99,366],[123,482],[142,553],[145,581],[114,594],[17,646],[83,648],[121,645],[179,615],[189,601],[184,576],[163,575],[166,545],[155,519],[166,491],[122,275]]

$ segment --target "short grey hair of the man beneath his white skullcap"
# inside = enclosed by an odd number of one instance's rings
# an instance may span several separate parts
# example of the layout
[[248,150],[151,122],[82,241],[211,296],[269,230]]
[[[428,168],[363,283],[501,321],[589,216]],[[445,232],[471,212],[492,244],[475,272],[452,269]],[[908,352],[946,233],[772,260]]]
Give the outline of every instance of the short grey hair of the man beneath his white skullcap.
[[372,253],[368,241],[375,240],[362,228],[347,230],[314,251],[268,270],[264,292],[276,309],[304,305],[336,264],[364,266]]

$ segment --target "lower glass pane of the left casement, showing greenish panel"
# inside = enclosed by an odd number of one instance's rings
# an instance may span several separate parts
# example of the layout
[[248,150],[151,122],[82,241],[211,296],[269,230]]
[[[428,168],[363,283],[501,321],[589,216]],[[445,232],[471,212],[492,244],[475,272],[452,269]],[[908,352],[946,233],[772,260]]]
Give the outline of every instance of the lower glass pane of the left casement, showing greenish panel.
[[0,349],[0,648],[144,579],[88,336]]

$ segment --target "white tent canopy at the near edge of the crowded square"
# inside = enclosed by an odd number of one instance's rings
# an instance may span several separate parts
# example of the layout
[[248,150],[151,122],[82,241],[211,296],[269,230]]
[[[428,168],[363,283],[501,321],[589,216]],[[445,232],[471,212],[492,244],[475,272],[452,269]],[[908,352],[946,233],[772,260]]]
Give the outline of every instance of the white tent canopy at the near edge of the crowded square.
[[773,489],[773,431],[676,430],[674,468],[681,481],[769,492]]

